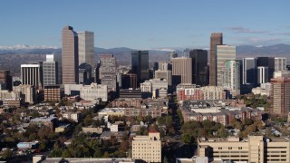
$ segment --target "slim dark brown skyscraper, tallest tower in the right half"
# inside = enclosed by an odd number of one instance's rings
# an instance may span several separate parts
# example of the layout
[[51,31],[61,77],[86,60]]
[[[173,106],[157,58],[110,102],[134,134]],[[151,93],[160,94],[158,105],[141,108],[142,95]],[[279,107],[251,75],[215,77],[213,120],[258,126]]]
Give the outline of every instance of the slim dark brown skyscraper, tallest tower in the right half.
[[209,85],[217,86],[217,45],[223,44],[223,34],[213,33],[210,36]]

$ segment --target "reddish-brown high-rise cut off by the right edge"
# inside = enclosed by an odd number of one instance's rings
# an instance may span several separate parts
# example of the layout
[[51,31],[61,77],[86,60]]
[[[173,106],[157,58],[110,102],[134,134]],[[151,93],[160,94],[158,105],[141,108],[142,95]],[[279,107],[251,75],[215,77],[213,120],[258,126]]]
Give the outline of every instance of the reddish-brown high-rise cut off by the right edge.
[[290,110],[290,79],[271,79],[271,103],[270,113],[279,116],[287,116]]

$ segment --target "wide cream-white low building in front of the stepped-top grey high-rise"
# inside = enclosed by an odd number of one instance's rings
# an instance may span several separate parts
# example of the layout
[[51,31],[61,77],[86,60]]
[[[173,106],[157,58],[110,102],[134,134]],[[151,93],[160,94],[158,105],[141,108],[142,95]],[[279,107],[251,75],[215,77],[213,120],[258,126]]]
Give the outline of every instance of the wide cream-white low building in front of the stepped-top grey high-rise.
[[108,87],[107,85],[101,85],[92,83],[91,85],[82,85],[81,98],[86,101],[108,101]]

